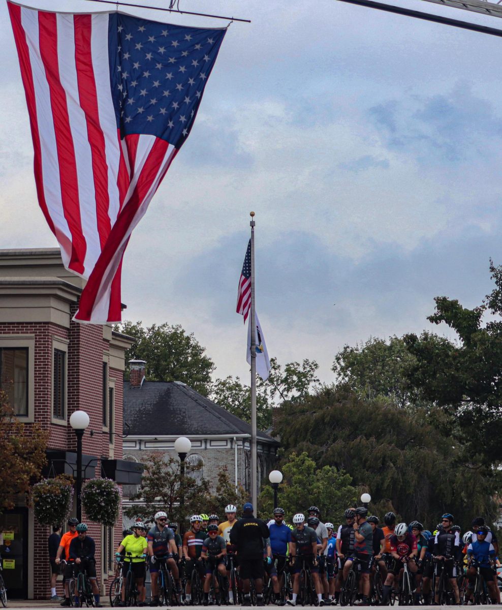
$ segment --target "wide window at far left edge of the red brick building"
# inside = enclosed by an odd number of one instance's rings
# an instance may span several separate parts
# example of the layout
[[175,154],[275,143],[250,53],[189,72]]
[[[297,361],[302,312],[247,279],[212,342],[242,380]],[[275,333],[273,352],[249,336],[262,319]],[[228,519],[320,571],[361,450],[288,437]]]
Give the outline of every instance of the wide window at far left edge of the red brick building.
[[0,348],[0,389],[15,415],[28,415],[28,348]]

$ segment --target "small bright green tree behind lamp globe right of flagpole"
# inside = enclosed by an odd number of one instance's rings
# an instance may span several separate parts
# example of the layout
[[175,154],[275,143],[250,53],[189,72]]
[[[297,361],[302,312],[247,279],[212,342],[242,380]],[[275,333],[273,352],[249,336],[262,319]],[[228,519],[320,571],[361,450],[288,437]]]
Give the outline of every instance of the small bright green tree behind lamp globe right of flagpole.
[[[329,465],[319,468],[306,451],[292,451],[279,468],[284,477],[279,487],[279,506],[290,523],[296,512],[306,512],[311,504],[320,509],[323,520],[341,522],[343,511],[356,501],[357,490],[351,476]],[[258,508],[264,519],[271,517],[274,504],[270,484],[262,487]]]

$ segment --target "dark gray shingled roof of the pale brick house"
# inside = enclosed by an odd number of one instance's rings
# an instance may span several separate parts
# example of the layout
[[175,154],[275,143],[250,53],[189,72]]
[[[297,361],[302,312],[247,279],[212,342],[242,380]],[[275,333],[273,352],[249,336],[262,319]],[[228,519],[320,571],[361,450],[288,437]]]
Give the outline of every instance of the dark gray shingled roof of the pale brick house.
[[[132,388],[124,381],[124,422],[129,436],[251,434],[248,423],[178,382],[144,381]],[[265,432],[258,431],[257,439],[279,445]]]

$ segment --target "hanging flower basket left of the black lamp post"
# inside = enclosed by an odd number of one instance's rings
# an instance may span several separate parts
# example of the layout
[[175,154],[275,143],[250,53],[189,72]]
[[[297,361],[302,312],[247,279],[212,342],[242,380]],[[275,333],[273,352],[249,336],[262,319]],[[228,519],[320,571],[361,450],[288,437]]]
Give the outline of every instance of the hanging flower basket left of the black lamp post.
[[40,525],[63,523],[70,514],[73,501],[73,479],[57,476],[35,483],[31,491],[35,517]]

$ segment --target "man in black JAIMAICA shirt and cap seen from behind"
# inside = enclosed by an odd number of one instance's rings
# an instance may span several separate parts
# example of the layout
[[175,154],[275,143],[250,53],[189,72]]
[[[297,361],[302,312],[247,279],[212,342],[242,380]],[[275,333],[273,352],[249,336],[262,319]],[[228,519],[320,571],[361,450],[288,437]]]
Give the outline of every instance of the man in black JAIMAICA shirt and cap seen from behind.
[[264,578],[264,539],[270,536],[267,524],[253,515],[253,504],[246,502],[243,506],[243,517],[230,530],[230,542],[237,546],[240,565],[240,578],[244,592],[244,606],[251,606],[249,589],[250,579],[254,578],[256,587],[256,605],[263,606]]

